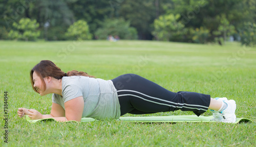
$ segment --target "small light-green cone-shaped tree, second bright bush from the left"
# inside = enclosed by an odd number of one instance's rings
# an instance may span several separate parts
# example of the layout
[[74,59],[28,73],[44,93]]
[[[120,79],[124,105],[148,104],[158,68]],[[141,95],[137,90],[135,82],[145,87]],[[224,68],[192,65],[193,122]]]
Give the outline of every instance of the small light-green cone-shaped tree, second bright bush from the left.
[[70,25],[65,36],[67,36],[68,39],[74,40],[92,39],[92,34],[90,34],[89,31],[89,25],[84,20],[78,20]]

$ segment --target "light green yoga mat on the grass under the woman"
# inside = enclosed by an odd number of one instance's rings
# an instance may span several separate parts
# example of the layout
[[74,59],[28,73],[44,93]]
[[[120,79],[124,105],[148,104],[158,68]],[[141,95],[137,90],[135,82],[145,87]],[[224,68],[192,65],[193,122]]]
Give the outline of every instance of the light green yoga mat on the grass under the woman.
[[[120,117],[116,121],[122,122],[134,122],[134,123],[216,123],[215,121],[210,121],[213,119],[213,116],[197,116],[197,115],[175,115],[175,116],[139,116],[139,117]],[[36,122],[48,122],[55,121],[54,119],[41,119],[41,120],[30,120],[26,115],[27,121],[31,123]],[[81,119],[81,122],[93,122],[97,121],[92,118],[84,117]],[[68,121],[76,122],[76,121]],[[250,123],[252,122],[249,119],[237,118],[237,121],[234,124],[239,123]]]

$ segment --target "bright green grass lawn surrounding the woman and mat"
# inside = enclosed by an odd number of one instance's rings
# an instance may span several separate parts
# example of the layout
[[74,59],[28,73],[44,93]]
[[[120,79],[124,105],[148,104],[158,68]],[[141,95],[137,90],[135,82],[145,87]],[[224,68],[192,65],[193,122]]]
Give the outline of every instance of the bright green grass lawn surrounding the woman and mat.
[[[0,146],[254,146],[256,144],[256,48],[156,41],[0,41]],[[113,79],[139,74],[166,89],[227,97],[237,102],[237,117],[250,124],[137,124],[115,121],[30,124],[17,108],[51,110],[51,95],[33,92],[29,71],[41,60],[62,71],[86,71]],[[8,143],[4,142],[4,92],[8,92]],[[190,115],[175,111],[154,115]],[[203,115],[210,115],[207,111]],[[125,116],[133,116],[125,114]]]

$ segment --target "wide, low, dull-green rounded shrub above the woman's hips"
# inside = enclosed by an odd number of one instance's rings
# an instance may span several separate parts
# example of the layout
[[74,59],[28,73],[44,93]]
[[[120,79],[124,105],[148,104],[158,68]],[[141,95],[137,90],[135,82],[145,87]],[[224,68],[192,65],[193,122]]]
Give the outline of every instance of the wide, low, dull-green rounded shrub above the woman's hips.
[[109,35],[118,36],[120,39],[132,40],[137,39],[137,30],[130,26],[129,21],[123,18],[106,19],[102,27],[95,32],[97,39],[106,39]]

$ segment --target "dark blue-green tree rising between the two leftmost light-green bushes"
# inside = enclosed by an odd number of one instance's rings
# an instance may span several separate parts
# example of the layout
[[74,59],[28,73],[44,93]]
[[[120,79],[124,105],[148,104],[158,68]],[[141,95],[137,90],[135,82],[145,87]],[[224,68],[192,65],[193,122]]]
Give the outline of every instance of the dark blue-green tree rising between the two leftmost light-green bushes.
[[[67,28],[75,21],[73,12],[67,5],[68,0],[33,1],[30,16],[37,20],[40,30],[45,31],[41,37],[46,40],[65,40]],[[49,24],[46,29],[45,24]]]

